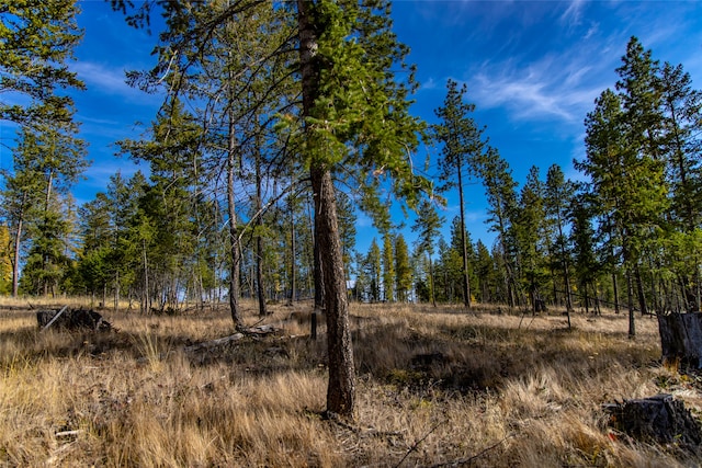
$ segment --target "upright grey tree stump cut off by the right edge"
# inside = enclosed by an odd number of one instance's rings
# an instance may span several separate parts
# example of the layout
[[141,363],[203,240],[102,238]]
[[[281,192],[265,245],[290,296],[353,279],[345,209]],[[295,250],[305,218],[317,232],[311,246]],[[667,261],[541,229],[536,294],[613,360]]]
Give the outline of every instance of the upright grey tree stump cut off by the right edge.
[[658,315],[664,363],[699,369],[702,359],[702,313]]

